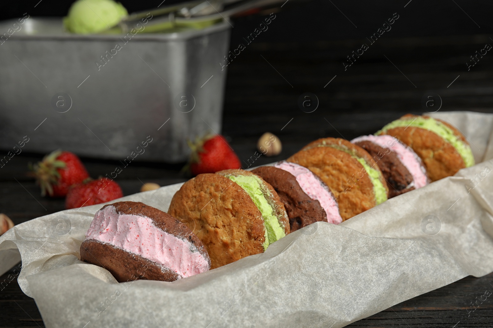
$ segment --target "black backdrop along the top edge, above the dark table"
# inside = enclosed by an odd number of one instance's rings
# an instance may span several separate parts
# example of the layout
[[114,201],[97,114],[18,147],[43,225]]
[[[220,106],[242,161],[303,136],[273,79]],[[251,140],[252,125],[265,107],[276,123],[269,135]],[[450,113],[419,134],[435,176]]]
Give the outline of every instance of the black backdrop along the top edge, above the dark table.
[[[280,0],[279,6],[284,1]],[[26,12],[31,16],[65,16],[73,1],[41,0],[38,2],[39,0],[2,1],[0,20],[21,17]],[[162,0],[122,0],[119,2],[127,8],[129,13],[132,13],[155,8]],[[178,2],[183,1],[166,0],[161,6]],[[258,41],[308,43],[324,40],[363,39],[372,34],[394,12],[402,14],[402,19],[389,33],[392,37],[470,35],[492,31],[493,3],[491,1],[412,0],[407,4],[408,2],[409,0],[289,0],[282,7],[281,19],[276,22],[276,28],[262,35],[262,39],[259,38]],[[235,20],[233,44],[243,34],[248,34],[249,27],[255,26],[257,21],[260,19],[255,16]]]

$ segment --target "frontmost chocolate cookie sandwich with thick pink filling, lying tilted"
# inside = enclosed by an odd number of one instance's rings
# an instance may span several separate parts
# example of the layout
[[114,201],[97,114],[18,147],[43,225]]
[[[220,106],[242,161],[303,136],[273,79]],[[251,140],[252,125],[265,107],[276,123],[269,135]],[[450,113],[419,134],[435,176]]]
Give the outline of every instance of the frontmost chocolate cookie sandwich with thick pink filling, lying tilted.
[[204,244],[190,229],[140,202],[117,202],[97,211],[80,259],[106,268],[118,282],[174,281],[211,267]]

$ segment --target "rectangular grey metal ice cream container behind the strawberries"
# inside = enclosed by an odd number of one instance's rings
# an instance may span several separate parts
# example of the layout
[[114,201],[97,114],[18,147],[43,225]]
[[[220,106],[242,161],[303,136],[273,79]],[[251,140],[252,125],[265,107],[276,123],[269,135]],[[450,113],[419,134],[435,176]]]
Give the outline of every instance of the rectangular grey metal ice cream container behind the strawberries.
[[185,160],[187,138],[220,133],[230,28],[75,35],[61,19],[1,22],[0,148],[27,136],[22,151]]

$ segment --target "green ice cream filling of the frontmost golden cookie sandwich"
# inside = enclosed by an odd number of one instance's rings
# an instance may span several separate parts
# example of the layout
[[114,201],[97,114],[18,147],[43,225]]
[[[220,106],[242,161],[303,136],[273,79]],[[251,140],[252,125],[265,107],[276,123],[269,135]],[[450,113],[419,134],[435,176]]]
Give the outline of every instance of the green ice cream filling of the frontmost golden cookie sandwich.
[[262,213],[265,225],[265,242],[262,244],[264,250],[274,241],[286,236],[284,228],[282,228],[277,216],[274,214],[274,209],[262,192],[260,186],[262,181],[259,178],[255,176],[226,176],[226,178],[238,183]]

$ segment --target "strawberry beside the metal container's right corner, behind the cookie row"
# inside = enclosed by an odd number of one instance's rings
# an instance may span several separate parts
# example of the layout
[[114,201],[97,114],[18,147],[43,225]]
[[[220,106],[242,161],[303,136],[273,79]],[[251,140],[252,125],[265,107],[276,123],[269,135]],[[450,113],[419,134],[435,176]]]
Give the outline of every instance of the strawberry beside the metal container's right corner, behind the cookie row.
[[194,176],[242,167],[240,159],[221,135],[206,136],[195,143],[188,142],[192,150],[189,165]]

